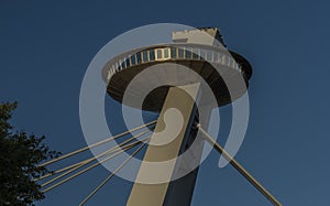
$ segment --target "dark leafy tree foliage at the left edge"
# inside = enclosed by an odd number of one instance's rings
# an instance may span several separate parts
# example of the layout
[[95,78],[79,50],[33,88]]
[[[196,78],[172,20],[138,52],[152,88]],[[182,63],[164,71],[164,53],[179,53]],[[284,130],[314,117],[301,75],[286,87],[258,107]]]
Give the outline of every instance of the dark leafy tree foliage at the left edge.
[[0,105],[0,205],[33,205],[44,198],[41,186],[33,178],[50,171],[38,163],[59,155],[37,138],[25,131],[13,131],[9,123],[18,104]]

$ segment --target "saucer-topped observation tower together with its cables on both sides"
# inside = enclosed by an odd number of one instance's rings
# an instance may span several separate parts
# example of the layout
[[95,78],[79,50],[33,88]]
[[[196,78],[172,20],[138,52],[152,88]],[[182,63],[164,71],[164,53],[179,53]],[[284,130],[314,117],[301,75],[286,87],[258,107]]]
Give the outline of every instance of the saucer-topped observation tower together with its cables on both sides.
[[[92,148],[102,147],[92,158],[74,161],[76,163],[34,178],[40,183],[43,193],[124,154],[127,159],[120,161],[121,164],[111,170],[109,176],[80,202],[79,206],[82,206],[129,162],[134,162],[131,161],[132,158],[146,147],[142,161],[139,160],[138,174],[127,205],[188,206],[191,203],[199,164],[205,160],[207,147],[204,145],[207,142],[271,203],[280,206],[208,133],[209,124],[219,127],[219,122],[210,119],[212,109],[231,104],[246,93],[252,75],[250,63],[242,55],[227,50],[219,30],[215,28],[174,31],[172,41],[124,52],[102,67],[101,75],[111,98],[138,108],[139,111],[157,112],[158,119],[147,123],[141,119],[139,126],[129,128],[128,131],[98,142],[89,142],[88,147],[37,165],[54,165]],[[124,120],[132,119],[130,115]],[[146,134],[148,135],[145,137]],[[130,138],[120,143],[107,145],[128,135]],[[133,153],[125,153],[138,145]],[[131,169],[129,167],[130,171]]]

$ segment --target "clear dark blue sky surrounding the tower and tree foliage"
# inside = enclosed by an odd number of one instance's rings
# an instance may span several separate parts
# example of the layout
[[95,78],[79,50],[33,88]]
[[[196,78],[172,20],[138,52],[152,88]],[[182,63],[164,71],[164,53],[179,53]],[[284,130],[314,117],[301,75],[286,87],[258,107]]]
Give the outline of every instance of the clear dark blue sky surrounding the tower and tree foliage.
[[[151,23],[219,26],[254,73],[251,116],[237,159],[284,205],[329,205],[329,7],[327,1],[1,1],[0,100],[19,101],[13,124],[45,134],[63,153],[86,145],[79,90],[91,58],[117,35]],[[120,105],[107,99],[110,117]],[[212,152],[193,205],[271,205]],[[40,206],[77,205],[100,167],[46,195]],[[88,205],[124,205],[116,177]],[[327,204],[328,203],[328,204]]]

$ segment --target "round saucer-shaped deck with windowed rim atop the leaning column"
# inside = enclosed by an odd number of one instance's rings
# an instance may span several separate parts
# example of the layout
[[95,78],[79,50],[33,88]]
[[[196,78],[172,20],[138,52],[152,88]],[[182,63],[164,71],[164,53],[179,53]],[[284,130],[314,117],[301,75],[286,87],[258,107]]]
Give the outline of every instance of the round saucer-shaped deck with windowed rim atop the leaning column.
[[[212,89],[218,106],[230,104],[241,97],[246,91],[252,75],[250,63],[238,53],[201,44],[162,44],[129,51],[110,59],[102,69],[102,77],[108,83],[108,94],[122,102],[128,85],[139,73],[150,66],[162,66],[164,63],[184,65],[195,71]],[[223,79],[226,82],[243,79],[244,87],[231,89],[229,94]],[[158,87],[150,93],[143,102],[143,109],[160,111],[169,87]],[[139,108],[134,105],[129,106]]]

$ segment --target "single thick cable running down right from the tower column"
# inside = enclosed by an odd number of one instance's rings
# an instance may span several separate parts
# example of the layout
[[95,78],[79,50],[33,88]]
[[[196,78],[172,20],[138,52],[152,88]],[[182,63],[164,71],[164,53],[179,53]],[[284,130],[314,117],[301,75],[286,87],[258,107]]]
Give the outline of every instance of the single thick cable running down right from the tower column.
[[201,128],[200,123],[197,128],[206,137],[206,140],[216,149],[223,158],[239,171],[254,187],[257,188],[271,203],[275,206],[282,206],[282,204],[265,188],[263,187],[238,161],[233,159],[205,129]]

